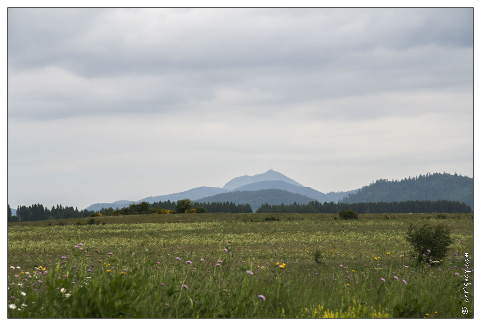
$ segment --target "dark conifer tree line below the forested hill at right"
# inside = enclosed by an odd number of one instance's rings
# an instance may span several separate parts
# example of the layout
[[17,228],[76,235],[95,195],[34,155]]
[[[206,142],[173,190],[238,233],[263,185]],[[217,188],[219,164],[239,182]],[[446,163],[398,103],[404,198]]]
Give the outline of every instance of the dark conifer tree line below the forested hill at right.
[[310,201],[308,204],[290,205],[262,204],[255,213],[339,213],[353,210],[357,213],[471,213],[471,207],[459,201],[391,201],[345,203],[333,201],[321,204]]

